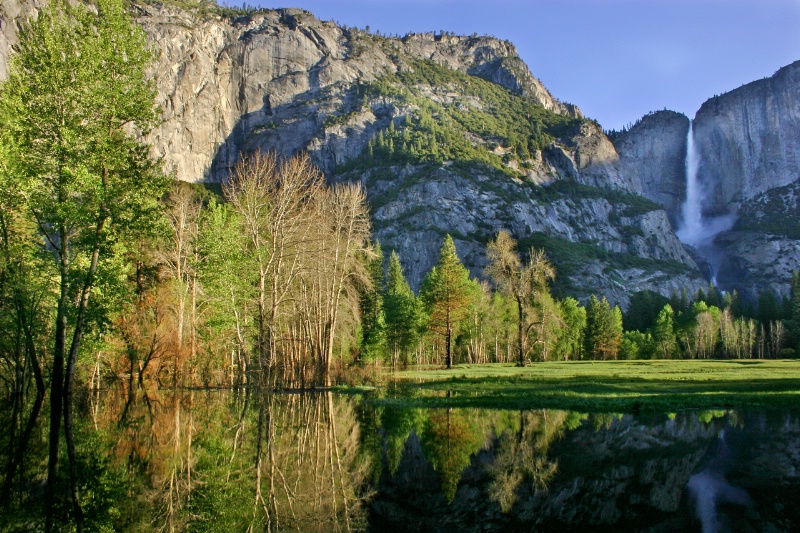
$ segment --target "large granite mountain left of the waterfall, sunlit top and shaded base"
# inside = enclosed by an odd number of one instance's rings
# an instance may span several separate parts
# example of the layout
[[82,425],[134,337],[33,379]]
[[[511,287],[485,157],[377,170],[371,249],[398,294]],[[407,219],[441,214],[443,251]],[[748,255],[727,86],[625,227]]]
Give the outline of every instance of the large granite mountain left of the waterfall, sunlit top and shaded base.
[[[634,191],[637,183],[617,166],[602,129],[556,100],[510,43],[449,34],[386,38],[301,10],[228,20],[163,6],[137,9],[160,52],[153,73],[163,123],[149,140],[179,179],[224,180],[242,151],[305,150],[331,180],[365,185],[375,236],[398,251],[415,287],[445,233],[479,275],[485,243],[501,228],[521,243],[546,246],[561,286],[580,297],[603,294],[625,305],[637,290],[666,295],[704,284],[658,206],[632,208],[630,198],[618,202],[604,192]],[[425,78],[426,65],[439,70]],[[502,87],[503,98],[545,113],[546,142],[521,156],[510,135],[466,124],[457,110],[491,114],[499,107],[466,88],[484,80]],[[380,132],[413,136],[424,129],[416,125],[426,113],[438,127],[455,127],[484,159],[502,161],[495,165],[502,172],[471,156],[455,165],[455,157],[444,156],[424,164],[413,157],[352,164]],[[445,124],[445,113],[461,122]],[[395,156],[414,150],[403,144]],[[556,183],[590,190],[547,190]]]

